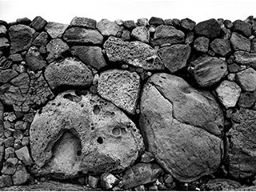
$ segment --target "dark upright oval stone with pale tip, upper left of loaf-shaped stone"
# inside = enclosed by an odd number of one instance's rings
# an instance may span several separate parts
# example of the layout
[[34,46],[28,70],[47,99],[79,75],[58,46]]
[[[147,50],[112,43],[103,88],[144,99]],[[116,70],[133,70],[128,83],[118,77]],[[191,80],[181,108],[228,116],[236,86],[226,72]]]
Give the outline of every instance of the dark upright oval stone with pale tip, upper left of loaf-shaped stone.
[[30,67],[30,70],[42,70],[46,67],[46,61],[40,54],[39,50],[35,46],[31,46],[26,53],[26,64]]

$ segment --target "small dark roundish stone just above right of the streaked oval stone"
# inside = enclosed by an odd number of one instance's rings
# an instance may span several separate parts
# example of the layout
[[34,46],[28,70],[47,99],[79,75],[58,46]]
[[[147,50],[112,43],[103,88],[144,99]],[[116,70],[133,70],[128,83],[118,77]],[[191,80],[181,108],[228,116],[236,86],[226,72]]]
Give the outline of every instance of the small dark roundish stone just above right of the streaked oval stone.
[[213,50],[215,54],[225,57],[226,54],[231,52],[230,41],[222,38],[216,38],[213,42],[210,42],[210,49]]

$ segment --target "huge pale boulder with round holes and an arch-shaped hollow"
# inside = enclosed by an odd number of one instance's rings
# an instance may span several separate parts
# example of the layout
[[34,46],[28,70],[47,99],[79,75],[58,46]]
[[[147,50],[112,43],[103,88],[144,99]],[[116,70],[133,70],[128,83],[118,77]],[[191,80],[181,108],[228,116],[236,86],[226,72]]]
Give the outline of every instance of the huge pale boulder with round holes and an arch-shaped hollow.
[[69,90],[47,103],[30,127],[38,174],[121,172],[144,150],[142,135],[118,107],[86,90]]

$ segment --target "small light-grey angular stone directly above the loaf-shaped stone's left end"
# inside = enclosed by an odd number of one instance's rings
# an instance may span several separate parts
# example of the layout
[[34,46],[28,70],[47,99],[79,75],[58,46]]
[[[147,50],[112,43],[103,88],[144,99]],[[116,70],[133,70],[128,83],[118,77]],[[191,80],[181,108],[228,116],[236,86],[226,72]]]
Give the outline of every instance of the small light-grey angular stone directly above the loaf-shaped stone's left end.
[[61,38],[54,38],[47,44],[46,49],[49,52],[46,60],[50,63],[57,58],[62,58],[62,54],[69,50],[70,47]]

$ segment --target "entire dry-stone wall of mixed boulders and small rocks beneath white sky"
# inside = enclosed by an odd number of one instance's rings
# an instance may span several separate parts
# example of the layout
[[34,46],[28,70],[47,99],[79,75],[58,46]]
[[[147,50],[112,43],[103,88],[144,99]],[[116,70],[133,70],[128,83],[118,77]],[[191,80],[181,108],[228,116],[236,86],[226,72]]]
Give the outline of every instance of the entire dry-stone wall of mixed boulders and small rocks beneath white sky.
[[254,185],[255,36],[252,16],[0,20],[0,187]]

